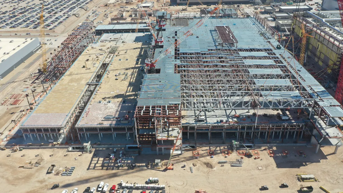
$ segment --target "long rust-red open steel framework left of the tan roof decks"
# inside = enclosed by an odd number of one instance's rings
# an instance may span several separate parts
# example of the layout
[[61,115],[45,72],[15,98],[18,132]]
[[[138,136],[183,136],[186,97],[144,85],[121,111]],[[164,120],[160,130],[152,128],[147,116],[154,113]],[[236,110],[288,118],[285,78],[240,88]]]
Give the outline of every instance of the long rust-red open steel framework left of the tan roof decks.
[[54,54],[50,53],[47,64],[45,82],[56,81],[64,75],[74,61],[81,55],[86,47],[95,41],[95,27],[93,22],[83,22],[58,46]]

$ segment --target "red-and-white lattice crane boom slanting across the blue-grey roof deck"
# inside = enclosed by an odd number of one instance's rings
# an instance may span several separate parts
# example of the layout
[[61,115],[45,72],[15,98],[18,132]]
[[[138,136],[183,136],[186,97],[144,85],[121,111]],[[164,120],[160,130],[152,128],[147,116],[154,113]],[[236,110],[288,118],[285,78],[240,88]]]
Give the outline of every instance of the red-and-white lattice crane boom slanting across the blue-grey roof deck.
[[189,29],[184,35],[182,35],[173,45],[171,45],[168,49],[166,49],[161,55],[158,56],[158,58],[153,62],[155,64],[158,60],[165,57],[167,54],[169,54],[176,46],[178,46],[182,41],[184,41],[188,36],[192,35],[194,31],[198,29],[202,24],[205,23],[207,19],[211,17],[211,15],[217,11],[219,8],[214,8],[209,14],[204,16],[198,23],[196,23],[191,29]]

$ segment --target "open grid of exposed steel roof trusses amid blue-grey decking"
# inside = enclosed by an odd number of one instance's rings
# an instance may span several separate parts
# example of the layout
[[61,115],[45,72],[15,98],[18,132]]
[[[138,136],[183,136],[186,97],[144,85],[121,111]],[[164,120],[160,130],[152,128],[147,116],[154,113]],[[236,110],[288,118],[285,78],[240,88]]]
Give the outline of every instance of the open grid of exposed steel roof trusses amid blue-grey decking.
[[[250,50],[240,49],[239,52]],[[313,102],[306,88],[283,58],[272,50],[266,56],[240,56],[238,49],[211,49],[208,52],[180,52],[180,64],[175,64],[175,72],[180,73],[182,109],[261,109],[310,108]],[[273,64],[245,64],[243,59],[273,60]],[[250,73],[251,69],[257,70]],[[267,70],[268,69],[268,70]],[[273,73],[273,70],[275,72]],[[263,84],[257,84],[261,80]],[[266,83],[267,80],[271,83]],[[289,84],[282,83],[287,80]],[[280,81],[280,84],[277,82]],[[264,92],[264,94],[262,94]],[[266,95],[265,92],[297,92],[298,97]]]

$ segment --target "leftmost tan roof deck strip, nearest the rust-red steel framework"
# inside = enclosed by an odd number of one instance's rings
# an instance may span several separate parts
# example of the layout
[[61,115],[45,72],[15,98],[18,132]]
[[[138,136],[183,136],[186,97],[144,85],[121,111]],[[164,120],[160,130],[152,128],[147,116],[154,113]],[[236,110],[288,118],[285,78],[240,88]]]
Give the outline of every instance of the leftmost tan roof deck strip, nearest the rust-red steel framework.
[[[62,126],[85,92],[87,82],[93,79],[103,63],[104,49],[108,46],[108,43],[88,46],[22,126]],[[85,64],[90,69],[83,68]]]

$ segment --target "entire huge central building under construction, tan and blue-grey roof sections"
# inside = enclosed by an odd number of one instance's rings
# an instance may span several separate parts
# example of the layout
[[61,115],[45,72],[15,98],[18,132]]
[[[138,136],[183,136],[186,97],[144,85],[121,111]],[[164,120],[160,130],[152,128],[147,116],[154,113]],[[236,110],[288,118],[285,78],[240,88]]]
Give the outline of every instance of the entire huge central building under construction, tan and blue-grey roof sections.
[[[151,34],[104,31],[22,122],[24,136],[57,133],[155,154],[232,141],[310,143],[316,151],[342,145],[342,106],[265,20],[214,16],[201,24],[201,18],[167,21],[163,42],[145,52],[158,59],[154,73],[143,55]],[[80,73],[92,55],[99,62]]]

